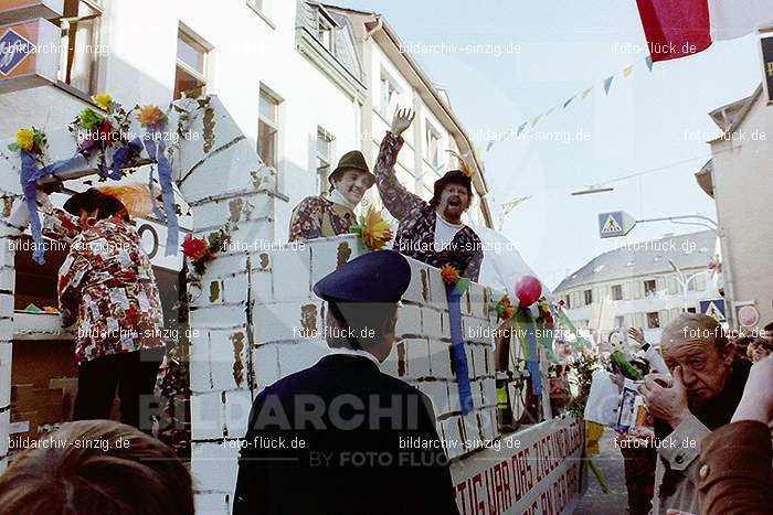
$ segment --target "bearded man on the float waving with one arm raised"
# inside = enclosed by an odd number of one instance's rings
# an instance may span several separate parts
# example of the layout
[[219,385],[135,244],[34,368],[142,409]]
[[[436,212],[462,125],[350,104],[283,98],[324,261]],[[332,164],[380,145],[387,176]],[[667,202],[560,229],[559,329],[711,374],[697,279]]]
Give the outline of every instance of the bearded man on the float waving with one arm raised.
[[452,265],[464,277],[478,280],[483,244],[478,235],[462,223],[462,214],[473,200],[472,180],[452,170],[434,185],[427,203],[409,192],[394,175],[403,139],[400,136],[413,121],[410,110],[395,114],[391,131],[381,141],[375,162],[375,184],[386,210],[400,221],[393,248],[420,261],[442,268]]

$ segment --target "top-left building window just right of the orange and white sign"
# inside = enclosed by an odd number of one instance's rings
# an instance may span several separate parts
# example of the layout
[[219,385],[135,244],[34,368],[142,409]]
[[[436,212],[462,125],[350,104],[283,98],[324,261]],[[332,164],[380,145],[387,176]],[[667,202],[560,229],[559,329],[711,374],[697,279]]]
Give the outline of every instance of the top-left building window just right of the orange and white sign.
[[99,0],[64,0],[62,18],[52,20],[62,30],[56,78],[87,95],[96,93],[100,19]]

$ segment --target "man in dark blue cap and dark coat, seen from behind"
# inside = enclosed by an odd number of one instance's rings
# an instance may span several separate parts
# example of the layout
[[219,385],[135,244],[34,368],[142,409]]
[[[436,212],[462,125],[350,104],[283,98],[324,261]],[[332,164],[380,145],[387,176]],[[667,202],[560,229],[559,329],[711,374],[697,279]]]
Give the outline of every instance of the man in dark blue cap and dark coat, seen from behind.
[[315,285],[331,353],[255,398],[234,515],[458,514],[430,398],[379,371],[410,281],[383,250]]

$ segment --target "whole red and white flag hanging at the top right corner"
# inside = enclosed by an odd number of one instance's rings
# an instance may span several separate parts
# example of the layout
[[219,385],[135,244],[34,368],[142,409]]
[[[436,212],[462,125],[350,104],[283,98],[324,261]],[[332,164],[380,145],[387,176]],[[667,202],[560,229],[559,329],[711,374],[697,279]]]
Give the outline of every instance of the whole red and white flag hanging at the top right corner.
[[653,62],[773,26],[773,0],[636,0]]

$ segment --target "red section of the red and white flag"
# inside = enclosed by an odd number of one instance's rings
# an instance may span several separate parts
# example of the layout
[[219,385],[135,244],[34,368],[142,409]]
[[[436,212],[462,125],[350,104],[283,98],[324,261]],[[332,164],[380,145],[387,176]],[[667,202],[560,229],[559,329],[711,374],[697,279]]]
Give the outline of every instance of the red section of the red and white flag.
[[697,54],[711,45],[707,0],[636,0],[654,62]]

